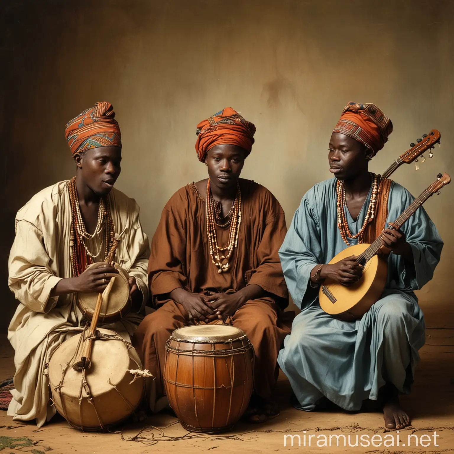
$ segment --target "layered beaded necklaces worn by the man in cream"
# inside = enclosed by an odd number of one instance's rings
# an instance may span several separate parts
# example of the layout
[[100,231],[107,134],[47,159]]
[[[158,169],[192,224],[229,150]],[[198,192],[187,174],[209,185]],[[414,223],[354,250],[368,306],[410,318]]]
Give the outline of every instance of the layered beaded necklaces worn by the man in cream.
[[[100,198],[96,228],[93,233],[87,232],[82,214],[80,212],[75,177],[69,180],[68,190],[69,200],[71,202],[71,231],[69,237],[71,267],[73,270],[73,276],[79,276],[79,274],[85,271],[85,268],[90,263],[93,263],[93,259],[99,257],[104,244],[106,246],[105,251],[107,257],[107,252],[109,252],[114,239],[115,228],[110,212],[109,200],[107,198]],[[99,237],[101,234],[102,237],[99,245],[99,251],[94,254],[85,244],[85,240],[91,240],[94,237]]]

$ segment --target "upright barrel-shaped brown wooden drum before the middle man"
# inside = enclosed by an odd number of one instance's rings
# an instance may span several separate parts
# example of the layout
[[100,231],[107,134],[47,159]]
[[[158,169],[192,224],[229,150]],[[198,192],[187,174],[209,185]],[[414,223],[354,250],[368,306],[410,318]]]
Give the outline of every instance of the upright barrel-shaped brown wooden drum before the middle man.
[[192,432],[232,429],[249,404],[253,372],[252,344],[233,326],[185,326],[166,343],[169,404]]

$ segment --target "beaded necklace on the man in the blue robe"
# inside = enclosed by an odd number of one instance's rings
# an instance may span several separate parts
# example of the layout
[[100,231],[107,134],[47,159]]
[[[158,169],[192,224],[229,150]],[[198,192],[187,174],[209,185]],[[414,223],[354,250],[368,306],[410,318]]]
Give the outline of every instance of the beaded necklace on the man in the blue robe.
[[345,215],[345,207],[347,202],[345,200],[345,185],[342,180],[337,180],[336,184],[336,202],[337,202],[337,226],[341,232],[341,237],[347,246],[351,246],[347,238],[358,238],[358,244],[362,243],[363,235],[367,224],[374,219],[375,216],[375,205],[377,202],[378,193],[378,177],[375,173],[370,173],[372,177],[372,195],[370,197],[369,206],[367,207],[366,216],[360,231],[356,235],[352,235],[350,228],[348,227],[347,217]]

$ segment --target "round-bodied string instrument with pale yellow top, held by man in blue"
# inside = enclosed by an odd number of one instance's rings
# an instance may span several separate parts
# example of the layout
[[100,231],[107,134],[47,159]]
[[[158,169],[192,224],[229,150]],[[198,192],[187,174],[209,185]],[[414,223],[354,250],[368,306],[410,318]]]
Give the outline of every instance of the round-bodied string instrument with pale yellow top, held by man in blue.
[[[451,178],[447,173],[438,174],[432,183],[409,207],[395,220],[396,228],[400,228],[415,211],[435,192],[449,184]],[[319,291],[321,308],[328,314],[341,320],[354,321],[360,319],[370,307],[378,301],[386,284],[388,275],[387,256],[377,255],[382,247],[381,235],[372,244],[357,244],[339,252],[329,265],[350,256],[364,266],[358,282],[343,286],[330,278],[326,278]]]

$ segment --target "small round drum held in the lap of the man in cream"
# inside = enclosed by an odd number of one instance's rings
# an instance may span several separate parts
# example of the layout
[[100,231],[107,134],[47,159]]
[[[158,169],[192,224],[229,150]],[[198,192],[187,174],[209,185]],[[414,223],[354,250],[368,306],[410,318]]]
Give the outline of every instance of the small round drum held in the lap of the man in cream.
[[[87,270],[103,265],[105,265],[105,262],[92,263],[87,266]],[[115,263],[114,267],[119,273],[118,276],[115,277],[114,285],[109,293],[109,297],[103,300],[101,312],[99,313],[99,323],[114,323],[131,310],[128,273],[124,271],[118,263]],[[88,320],[91,320],[93,317],[98,295],[98,293],[78,293],[77,295],[77,306]]]

